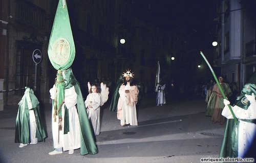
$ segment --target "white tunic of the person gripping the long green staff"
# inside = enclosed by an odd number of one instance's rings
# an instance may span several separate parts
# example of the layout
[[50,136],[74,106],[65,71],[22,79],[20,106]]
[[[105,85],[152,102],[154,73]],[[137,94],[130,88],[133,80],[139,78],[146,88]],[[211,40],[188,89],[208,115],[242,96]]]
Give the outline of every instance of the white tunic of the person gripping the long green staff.
[[[245,120],[256,119],[256,101],[251,102],[251,104],[247,110],[240,108],[237,105],[233,106],[232,110],[239,120],[238,157],[243,157],[253,141],[253,138],[254,138],[253,136],[256,133],[255,132],[256,124],[250,123],[250,122],[245,122],[245,121],[242,121],[241,119],[245,119]],[[222,115],[224,117],[226,117],[227,119],[233,119],[228,106],[224,107],[224,109],[222,111]]]

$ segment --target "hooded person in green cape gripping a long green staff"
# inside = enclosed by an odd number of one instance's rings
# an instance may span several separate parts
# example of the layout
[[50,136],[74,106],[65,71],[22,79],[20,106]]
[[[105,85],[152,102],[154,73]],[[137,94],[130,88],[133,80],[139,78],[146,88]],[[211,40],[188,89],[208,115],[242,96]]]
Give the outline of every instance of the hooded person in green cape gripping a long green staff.
[[[255,133],[256,133],[256,80],[254,83],[246,83],[238,96],[236,102],[231,107],[238,118],[238,123],[234,122],[227,105],[228,100],[224,99],[225,107],[222,114],[228,119],[220,157],[243,158],[255,157]],[[253,151],[253,152],[251,152]]]

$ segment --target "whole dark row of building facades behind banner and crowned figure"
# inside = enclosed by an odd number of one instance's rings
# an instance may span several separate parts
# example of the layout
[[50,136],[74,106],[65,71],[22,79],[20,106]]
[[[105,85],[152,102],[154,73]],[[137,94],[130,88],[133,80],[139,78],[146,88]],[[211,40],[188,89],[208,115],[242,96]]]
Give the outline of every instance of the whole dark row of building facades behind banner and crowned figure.
[[[57,4],[57,0],[0,1],[0,110],[16,105],[26,86],[35,90],[40,102],[49,103],[57,71],[47,50]],[[172,34],[137,18],[132,5],[67,0],[76,47],[72,69],[84,96],[88,81],[110,78],[114,86],[128,68],[154,90],[159,57],[167,64],[173,52]]]

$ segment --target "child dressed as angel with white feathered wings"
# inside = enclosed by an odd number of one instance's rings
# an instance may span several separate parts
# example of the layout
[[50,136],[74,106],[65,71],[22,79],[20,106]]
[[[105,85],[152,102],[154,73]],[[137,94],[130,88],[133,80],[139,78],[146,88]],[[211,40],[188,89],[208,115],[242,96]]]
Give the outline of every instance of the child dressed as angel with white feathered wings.
[[88,118],[91,121],[94,134],[100,134],[100,106],[102,106],[107,100],[109,95],[109,88],[106,84],[100,84],[100,91],[96,84],[91,86],[88,82],[89,95],[84,101],[87,108]]

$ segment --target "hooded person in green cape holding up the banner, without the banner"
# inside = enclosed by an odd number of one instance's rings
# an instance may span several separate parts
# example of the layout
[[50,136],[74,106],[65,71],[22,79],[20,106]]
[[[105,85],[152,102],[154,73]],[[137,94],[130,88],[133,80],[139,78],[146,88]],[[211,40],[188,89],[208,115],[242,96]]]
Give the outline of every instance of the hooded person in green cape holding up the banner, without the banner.
[[[58,80],[60,78],[61,80]],[[94,140],[92,126],[88,119],[86,106],[80,85],[73,75],[72,68],[58,71],[57,81],[65,84],[65,99],[61,109],[55,114],[55,108],[52,109],[52,133],[54,150],[50,155],[60,154],[62,151],[69,151],[73,154],[75,149],[80,148],[80,154],[97,154],[98,149]],[[58,87],[50,89],[51,98],[55,99]],[[55,100],[53,101],[54,104]]]

